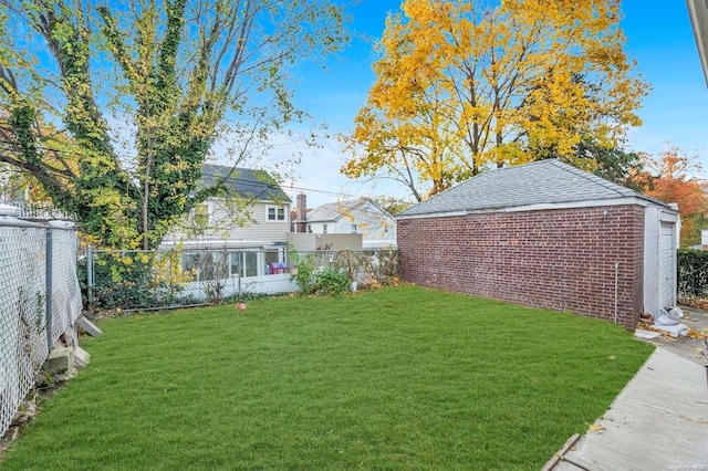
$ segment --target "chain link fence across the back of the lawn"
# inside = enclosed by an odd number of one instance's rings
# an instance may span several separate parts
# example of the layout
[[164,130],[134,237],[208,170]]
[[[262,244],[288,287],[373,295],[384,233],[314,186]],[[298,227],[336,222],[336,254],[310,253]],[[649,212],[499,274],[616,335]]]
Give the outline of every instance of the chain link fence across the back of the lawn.
[[90,249],[80,278],[92,310],[157,310],[298,292],[298,273],[305,263],[315,273],[346,274],[355,289],[387,284],[398,274],[396,251]]

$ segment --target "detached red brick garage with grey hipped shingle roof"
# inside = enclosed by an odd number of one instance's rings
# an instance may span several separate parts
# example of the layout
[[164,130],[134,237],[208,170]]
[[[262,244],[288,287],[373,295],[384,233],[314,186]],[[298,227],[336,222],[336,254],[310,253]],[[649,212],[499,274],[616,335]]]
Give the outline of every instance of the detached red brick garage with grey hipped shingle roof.
[[407,282],[627,328],[676,303],[676,209],[555,159],[483,172],[397,220]]

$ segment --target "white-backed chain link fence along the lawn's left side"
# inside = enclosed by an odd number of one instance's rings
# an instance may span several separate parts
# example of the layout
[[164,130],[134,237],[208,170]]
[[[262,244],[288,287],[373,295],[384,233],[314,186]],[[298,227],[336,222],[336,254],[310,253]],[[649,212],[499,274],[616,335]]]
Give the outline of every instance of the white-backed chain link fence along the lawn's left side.
[[75,230],[0,216],[0,437],[82,311]]

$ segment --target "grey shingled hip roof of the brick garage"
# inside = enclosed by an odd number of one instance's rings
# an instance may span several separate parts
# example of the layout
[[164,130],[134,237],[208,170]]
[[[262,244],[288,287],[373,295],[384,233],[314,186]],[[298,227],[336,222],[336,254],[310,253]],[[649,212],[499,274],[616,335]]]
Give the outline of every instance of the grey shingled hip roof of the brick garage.
[[668,205],[558,159],[489,170],[400,212],[399,217],[533,205],[641,198]]

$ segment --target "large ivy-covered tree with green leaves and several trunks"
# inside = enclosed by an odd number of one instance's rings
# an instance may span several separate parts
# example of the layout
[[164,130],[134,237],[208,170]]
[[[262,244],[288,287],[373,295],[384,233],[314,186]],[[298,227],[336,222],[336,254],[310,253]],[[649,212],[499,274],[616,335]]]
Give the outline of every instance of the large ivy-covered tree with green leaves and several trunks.
[[305,117],[288,69],[341,48],[345,21],[325,0],[0,0],[0,161],[98,244],[156,247],[225,191],[197,187],[217,138],[238,164]]

